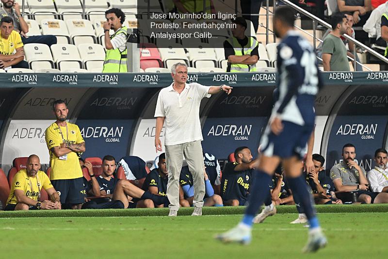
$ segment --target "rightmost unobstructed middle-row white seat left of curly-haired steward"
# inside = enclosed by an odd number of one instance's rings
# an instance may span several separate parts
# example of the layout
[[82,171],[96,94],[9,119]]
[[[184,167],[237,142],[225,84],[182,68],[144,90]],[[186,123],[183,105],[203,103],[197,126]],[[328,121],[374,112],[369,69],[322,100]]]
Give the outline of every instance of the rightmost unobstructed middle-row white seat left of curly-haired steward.
[[82,43],[97,43],[92,22],[85,19],[67,19],[67,30],[74,45]]

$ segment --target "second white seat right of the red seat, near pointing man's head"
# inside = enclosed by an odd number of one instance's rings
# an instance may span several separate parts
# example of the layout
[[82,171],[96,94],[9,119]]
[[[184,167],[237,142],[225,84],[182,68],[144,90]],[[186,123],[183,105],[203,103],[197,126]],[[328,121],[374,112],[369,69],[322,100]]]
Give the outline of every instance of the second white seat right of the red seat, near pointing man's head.
[[217,67],[217,58],[214,49],[207,43],[198,45],[198,48],[187,48],[189,61],[194,67]]

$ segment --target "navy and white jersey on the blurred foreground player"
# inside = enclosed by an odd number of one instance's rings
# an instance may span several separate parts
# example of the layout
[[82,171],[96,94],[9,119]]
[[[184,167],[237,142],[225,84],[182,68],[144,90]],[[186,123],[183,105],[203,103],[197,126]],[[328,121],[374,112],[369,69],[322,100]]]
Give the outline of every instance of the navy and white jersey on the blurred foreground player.
[[278,100],[273,115],[300,126],[314,125],[314,101],[321,87],[314,49],[297,32],[289,31],[278,45]]

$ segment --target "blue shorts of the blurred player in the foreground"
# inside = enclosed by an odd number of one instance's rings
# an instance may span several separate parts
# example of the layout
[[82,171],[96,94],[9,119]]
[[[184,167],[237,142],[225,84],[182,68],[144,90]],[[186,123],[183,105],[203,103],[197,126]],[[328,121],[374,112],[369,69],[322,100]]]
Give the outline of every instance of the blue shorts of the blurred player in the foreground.
[[300,126],[289,121],[283,121],[283,131],[275,135],[270,124],[261,136],[261,154],[267,157],[278,156],[291,158],[297,156],[302,160],[307,152],[307,141],[311,136],[314,125]]

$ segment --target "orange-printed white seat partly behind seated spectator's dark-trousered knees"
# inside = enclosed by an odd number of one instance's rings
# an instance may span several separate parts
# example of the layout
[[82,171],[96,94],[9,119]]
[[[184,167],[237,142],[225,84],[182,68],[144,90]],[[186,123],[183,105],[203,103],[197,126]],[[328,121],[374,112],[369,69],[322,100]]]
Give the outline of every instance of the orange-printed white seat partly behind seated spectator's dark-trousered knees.
[[44,35],[55,35],[57,37],[57,44],[71,44],[70,34],[63,20],[42,19],[40,26]]

